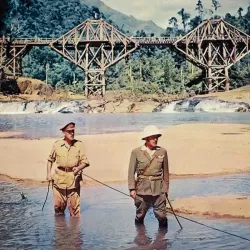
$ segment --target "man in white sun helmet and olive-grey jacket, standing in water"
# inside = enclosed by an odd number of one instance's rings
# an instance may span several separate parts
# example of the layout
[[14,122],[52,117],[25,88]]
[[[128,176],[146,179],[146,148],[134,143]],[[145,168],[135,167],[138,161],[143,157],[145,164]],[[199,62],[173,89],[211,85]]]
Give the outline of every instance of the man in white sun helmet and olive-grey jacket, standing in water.
[[[135,223],[142,224],[152,205],[160,227],[167,227],[166,196],[169,189],[168,155],[157,146],[161,133],[156,126],[144,129],[143,146],[135,148],[130,157],[128,188],[136,206]],[[135,179],[137,174],[137,180]]]

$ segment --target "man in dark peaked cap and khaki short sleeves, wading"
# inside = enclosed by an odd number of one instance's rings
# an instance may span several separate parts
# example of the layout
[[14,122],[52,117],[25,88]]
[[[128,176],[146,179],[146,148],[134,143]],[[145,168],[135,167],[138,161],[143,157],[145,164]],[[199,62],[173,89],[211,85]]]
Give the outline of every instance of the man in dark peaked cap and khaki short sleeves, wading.
[[[53,183],[55,215],[63,215],[68,204],[71,216],[80,216],[80,181],[82,169],[89,166],[84,145],[75,140],[75,123],[61,128],[64,139],[54,143],[47,163],[47,180]],[[56,161],[55,173],[51,168]]]

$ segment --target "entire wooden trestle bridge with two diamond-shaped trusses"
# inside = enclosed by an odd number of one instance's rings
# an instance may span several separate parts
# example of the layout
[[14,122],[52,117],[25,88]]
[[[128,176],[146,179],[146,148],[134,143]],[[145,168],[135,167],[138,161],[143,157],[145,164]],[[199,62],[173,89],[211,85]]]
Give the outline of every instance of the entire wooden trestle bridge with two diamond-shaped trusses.
[[104,20],[86,20],[59,38],[0,38],[0,67],[22,74],[34,46],[50,46],[85,72],[85,94],[105,94],[105,70],[140,46],[169,46],[206,72],[205,90],[229,90],[228,69],[249,53],[250,36],[223,19],[201,23],[183,37],[128,37]]

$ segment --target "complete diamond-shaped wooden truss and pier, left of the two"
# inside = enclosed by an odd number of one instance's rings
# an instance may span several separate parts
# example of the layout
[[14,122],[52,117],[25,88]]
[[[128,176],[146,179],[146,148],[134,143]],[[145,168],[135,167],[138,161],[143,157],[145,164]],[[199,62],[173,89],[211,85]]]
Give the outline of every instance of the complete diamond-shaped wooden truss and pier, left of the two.
[[105,95],[105,71],[132,53],[138,44],[104,20],[87,20],[50,47],[85,73],[85,95]]

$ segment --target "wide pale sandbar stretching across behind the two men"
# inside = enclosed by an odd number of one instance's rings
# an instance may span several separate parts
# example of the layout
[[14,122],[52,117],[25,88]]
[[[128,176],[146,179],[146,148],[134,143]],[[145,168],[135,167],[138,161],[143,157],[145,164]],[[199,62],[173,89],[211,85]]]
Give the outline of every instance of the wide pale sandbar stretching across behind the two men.
[[[177,125],[163,129],[162,133],[159,145],[168,149],[173,176],[250,172],[249,125]],[[84,141],[91,163],[86,174],[100,181],[125,181],[130,152],[142,143],[140,133],[135,132],[76,138]],[[1,138],[0,173],[12,178],[43,181],[54,141]]]

